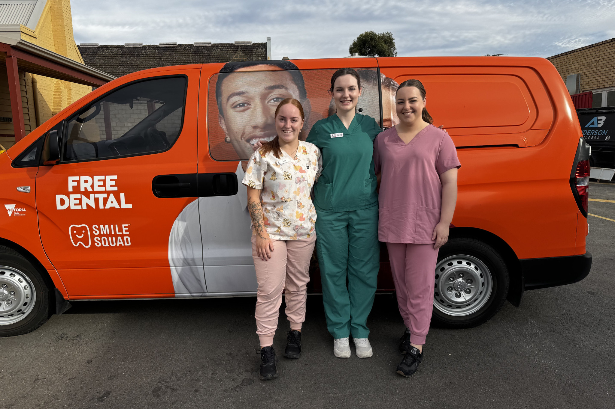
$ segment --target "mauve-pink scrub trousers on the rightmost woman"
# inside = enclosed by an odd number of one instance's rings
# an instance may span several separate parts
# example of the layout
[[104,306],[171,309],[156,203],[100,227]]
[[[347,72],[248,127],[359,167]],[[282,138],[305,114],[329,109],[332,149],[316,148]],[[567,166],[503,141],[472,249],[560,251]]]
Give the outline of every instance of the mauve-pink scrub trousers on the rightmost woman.
[[434,250],[433,244],[386,243],[386,247],[399,312],[410,328],[410,342],[423,345],[434,305],[438,250]]

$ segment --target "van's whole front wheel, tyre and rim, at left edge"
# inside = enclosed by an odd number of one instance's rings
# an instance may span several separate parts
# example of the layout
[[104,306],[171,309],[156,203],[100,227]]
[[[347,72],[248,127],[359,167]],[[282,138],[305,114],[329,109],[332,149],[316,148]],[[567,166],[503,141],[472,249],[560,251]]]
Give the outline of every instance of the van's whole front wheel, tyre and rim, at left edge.
[[0,337],[26,334],[49,316],[49,289],[22,254],[0,246]]

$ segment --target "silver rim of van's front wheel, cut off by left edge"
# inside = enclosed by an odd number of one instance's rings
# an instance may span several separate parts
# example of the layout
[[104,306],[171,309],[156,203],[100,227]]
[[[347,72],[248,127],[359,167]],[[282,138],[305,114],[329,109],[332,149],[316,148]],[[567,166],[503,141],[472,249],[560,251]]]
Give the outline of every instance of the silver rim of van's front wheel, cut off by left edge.
[[19,270],[0,266],[0,325],[26,318],[35,301],[36,291],[30,278]]

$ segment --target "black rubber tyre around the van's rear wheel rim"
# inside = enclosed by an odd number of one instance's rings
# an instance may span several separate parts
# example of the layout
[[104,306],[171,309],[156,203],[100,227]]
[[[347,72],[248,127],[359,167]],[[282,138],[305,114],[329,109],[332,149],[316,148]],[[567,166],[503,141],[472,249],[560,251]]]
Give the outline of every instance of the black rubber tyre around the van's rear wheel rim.
[[[491,273],[491,294],[485,304],[469,315],[457,316],[442,312],[434,305],[432,325],[441,328],[470,328],[489,321],[502,308],[509,287],[509,274],[502,256],[490,245],[476,239],[450,239],[438,253],[438,263],[451,256],[465,254],[483,262]],[[436,273],[438,273],[436,271]],[[434,300],[434,303],[437,302]]]

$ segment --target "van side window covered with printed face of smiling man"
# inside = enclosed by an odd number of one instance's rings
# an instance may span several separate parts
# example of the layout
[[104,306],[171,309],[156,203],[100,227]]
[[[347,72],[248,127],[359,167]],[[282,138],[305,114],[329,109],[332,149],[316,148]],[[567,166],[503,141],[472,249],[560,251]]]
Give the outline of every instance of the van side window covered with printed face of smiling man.
[[[336,108],[327,90],[336,69],[235,71],[212,75],[208,89],[207,136],[209,153],[216,161],[250,159],[257,141],[276,137],[274,113],[277,104],[292,97],[301,102],[306,118],[300,138],[308,137],[312,125],[335,115]],[[395,84],[373,67],[358,68],[362,94],[357,112],[368,115],[380,126],[391,126],[391,115],[381,121],[378,86],[391,112],[391,93],[384,92],[384,82]],[[379,77],[380,75],[380,77]],[[395,96],[395,90],[392,95]],[[393,105],[394,106],[394,105]],[[393,109],[393,112],[395,109]]]

